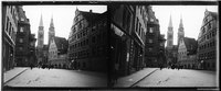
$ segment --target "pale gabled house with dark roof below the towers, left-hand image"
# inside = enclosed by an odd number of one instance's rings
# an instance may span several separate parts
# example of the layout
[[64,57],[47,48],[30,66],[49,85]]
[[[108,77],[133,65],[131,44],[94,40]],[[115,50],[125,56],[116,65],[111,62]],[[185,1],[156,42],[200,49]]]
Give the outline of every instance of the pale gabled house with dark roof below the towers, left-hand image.
[[49,62],[59,68],[67,68],[67,46],[69,43],[63,37],[53,37],[49,46]]

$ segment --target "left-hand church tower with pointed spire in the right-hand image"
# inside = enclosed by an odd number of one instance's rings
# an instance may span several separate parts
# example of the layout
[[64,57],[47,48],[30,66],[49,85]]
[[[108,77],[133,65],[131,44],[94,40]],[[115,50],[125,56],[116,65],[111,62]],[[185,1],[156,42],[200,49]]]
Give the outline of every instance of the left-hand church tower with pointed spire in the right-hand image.
[[173,45],[173,31],[172,31],[172,19],[170,15],[170,20],[169,20],[169,26],[168,26],[168,31],[167,31],[167,47],[172,47]]

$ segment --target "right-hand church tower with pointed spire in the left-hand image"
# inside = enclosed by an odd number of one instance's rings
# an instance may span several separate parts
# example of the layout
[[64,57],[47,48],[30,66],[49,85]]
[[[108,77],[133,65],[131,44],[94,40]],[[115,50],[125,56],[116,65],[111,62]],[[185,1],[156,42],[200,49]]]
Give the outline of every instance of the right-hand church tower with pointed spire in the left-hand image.
[[54,32],[54,22],[53,22],[53,16],[51,19],[51,23],[50,23],[50,27],[49,27],[49,42],[48,45],[50,46],[50,43],[52,41],[52,38],[55,36],[55,32]]

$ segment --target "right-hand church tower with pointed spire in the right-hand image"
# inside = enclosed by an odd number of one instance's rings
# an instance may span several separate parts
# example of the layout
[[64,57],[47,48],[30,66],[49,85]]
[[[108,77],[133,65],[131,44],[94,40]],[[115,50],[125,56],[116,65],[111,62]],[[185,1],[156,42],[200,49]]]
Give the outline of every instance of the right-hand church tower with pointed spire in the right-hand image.
[[185,31],[183,31],[183,24],[182,24],[182,16],[180,18],[179,29],[178,29],[178,38],[177,38],[177,45],[179,46],[179,42],[181,38],[185,37]]

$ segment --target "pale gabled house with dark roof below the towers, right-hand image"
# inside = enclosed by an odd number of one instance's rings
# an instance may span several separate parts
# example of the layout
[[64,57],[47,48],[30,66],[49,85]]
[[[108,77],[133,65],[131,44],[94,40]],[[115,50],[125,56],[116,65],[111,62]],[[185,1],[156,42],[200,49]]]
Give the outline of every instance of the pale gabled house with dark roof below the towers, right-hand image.
[[182,37],[178,46],[178,65],[183,68],[197,69],[197,41]]

